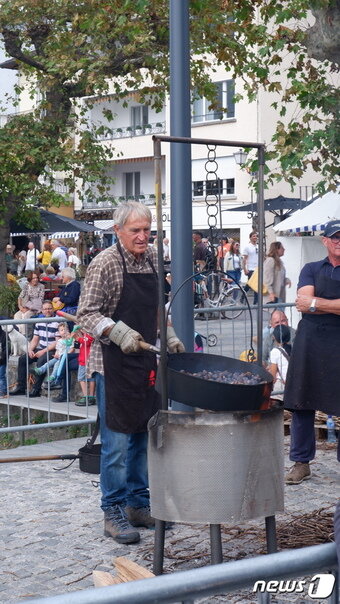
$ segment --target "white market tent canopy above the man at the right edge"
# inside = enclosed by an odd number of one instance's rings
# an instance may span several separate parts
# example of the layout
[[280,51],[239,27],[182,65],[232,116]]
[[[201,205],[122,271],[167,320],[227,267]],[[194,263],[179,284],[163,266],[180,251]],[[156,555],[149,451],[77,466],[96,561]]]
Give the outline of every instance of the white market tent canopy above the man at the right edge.
[[276,224],[273,228],[276,233],[306,233],[323,231],[329,220],[340,218],[340,187],[336,192],[329,192],[315,199],[303,210],[297,210],[290,216]]

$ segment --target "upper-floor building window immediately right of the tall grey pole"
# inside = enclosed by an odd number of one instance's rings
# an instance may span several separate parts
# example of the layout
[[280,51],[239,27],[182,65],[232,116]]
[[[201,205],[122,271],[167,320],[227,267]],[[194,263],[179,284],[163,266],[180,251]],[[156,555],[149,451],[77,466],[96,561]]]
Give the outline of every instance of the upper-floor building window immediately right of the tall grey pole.
[[211,101],[205,97],[194,99],[192,103],[192,122],[210,122],[235,117],[234,80],[216,82],[217,109],[209,109]]

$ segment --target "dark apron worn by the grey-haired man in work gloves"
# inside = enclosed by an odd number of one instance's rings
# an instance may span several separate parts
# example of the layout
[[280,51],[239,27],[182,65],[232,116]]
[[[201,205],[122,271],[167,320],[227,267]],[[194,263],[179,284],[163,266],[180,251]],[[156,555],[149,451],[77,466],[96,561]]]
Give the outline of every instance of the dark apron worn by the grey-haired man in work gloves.
[[[156,343],[158,312],[158,278],[149,260],[152,273],[128,273],[123,260],[123,289],[113,321],[124,321],[138,331],[146,342]],[[160,398],[155,391],[157,362],[150,352],[124,354],[111,342],[102,344],[106,423],[111,430],[133,434],[145,432],[147,423],[159,409]]]

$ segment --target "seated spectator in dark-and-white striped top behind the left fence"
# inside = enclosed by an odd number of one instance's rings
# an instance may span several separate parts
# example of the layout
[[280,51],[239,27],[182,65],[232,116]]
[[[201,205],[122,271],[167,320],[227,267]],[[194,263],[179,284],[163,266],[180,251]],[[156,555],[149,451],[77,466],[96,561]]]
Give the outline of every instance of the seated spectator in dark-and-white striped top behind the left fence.
[[[46,318],[54,316],[54,310],[52,302],[50,300],[44,301],[42,306],[42,312],[43,316]],[[33,338],[28,345],[28,356],[26,354],[22,354],[19,357],[17,385],[14,390],[10,391],[11,395],[26,394],[27,362],[29,365],[36,362],[37,366],[40,367],[41,365],[46,363],[46,361],[52,358],[57,344],[57,331],[57,321],[53,321],[51,323],[44,323],[43,321],[39,321],[38,323],[36,323],[34,327]],[[29,396],[40,396],[41,384],[43,382],[43,379],[43,376],[37,377],[32,392],[29,393]]]

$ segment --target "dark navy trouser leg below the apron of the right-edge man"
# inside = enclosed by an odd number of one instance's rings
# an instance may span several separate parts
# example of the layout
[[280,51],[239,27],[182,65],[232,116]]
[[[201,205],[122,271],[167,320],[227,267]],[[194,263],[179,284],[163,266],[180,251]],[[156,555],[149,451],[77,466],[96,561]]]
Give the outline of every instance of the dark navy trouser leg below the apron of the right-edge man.
[[315,457],[315,411],[293,411],[290,426],[290,460],[308,463]]

